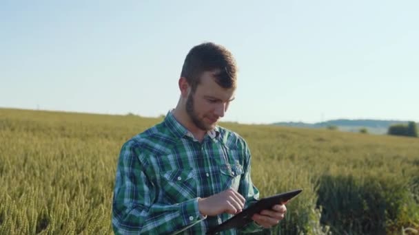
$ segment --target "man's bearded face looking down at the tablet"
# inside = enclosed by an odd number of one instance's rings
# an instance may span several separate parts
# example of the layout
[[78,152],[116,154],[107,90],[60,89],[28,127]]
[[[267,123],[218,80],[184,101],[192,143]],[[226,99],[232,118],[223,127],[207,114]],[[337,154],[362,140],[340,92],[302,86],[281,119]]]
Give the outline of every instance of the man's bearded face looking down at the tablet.
[[229,102],[234,99],[234,88],[220,87],[213,76],[205,71],[195,92],[190,92],[186,101],[186,112],[194,125],[203,131],[210,131],[224,116]]

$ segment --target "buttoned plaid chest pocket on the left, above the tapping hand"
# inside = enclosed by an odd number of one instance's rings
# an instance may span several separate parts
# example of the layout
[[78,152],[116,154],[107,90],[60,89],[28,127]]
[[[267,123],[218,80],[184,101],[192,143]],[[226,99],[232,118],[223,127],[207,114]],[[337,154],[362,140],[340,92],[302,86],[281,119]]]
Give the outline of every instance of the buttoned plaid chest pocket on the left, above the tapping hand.
[[171,203],[181,203],[196,197],[196,179],[193,169],[170,170],[161,173],[163,197]]

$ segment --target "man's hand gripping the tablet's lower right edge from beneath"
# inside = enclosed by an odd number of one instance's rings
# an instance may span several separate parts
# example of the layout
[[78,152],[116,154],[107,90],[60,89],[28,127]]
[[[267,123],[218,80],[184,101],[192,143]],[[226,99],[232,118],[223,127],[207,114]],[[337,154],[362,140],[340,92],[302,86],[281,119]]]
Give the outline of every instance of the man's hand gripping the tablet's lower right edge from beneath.
[[277,225],[284,219],[287,207],[284,204],[274,205],[272,210],[263,210],[259,214],[254,214],[252,219],[260,226],[268,228]]

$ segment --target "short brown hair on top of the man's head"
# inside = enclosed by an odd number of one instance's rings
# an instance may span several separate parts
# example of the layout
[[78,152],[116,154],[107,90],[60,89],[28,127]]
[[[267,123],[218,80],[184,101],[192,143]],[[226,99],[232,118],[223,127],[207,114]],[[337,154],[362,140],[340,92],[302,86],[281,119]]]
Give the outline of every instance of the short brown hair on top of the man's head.
[[181,77],[186,78],[195,91],[204,71],[218,71],[215,78],[221,87],[236,87],[236,60],[222,45],[202,43],[193,47],[185,58]]

